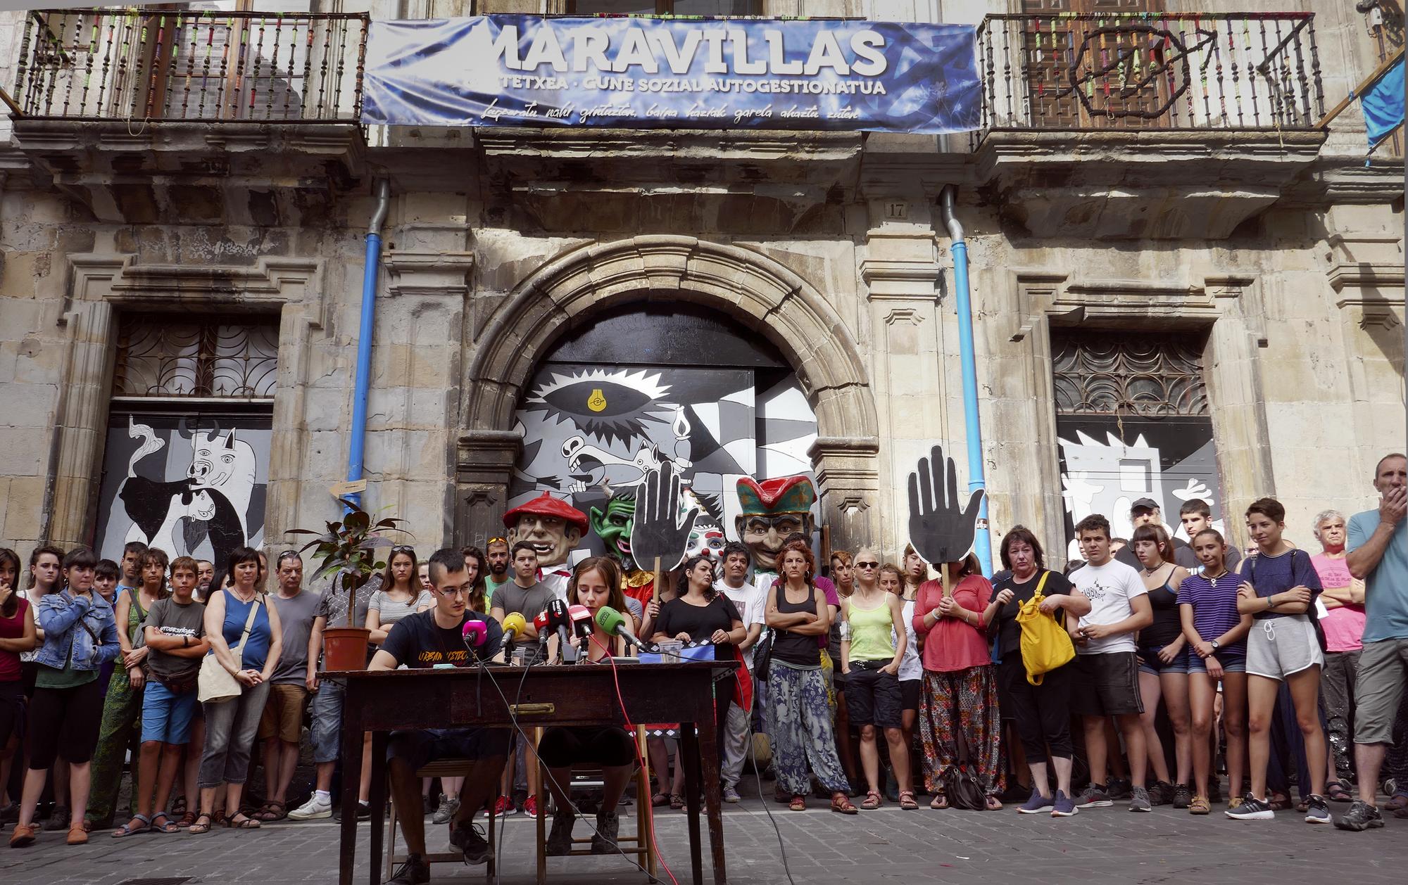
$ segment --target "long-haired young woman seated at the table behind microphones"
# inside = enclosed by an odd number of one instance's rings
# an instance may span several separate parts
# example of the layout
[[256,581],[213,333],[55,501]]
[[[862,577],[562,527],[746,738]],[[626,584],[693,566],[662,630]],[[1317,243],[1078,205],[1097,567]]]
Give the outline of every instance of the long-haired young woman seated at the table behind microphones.
[[[625,654],[625,640],[603,630],[596,623],[601,606],[611,606],[625,615],[625,597],[621,592],[621,570],[604,557],[596,556],[577,564],[567,582],[567,605],[583,605],[591,612],[591,637],[582,642],[572,639],[572,647],[565,658],[577,660],[586,654],[587,661],[601,661],[611,656]],[[617,726],[572,726],[552,727],[543,732],[538,743],[538,757],[548,768],[548,791],[552,794],[552,832],[548,834],[545,851],[549,857],[560,857],[572,851],[572,827],[577,812],[572,805],[569,788],[572,767],[590,763],[601,767],[601,808],[597,812],[596,834],[591,837],[593,854],[614,854],[617,851],[617,805],[635,771],[635,740],[625,729]]]

